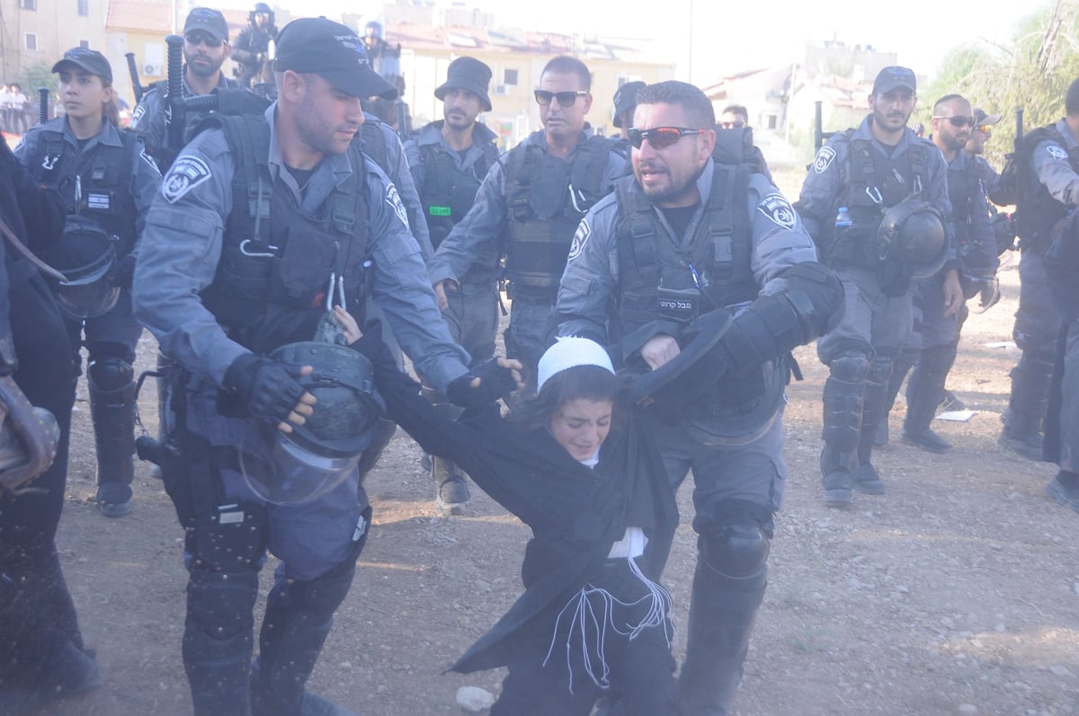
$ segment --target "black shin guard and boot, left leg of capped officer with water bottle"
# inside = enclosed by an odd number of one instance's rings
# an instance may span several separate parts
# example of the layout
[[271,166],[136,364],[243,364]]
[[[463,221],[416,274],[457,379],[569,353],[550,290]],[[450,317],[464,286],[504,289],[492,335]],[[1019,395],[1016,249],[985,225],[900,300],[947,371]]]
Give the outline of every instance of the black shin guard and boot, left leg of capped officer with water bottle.
[[841,356],[830,364],[824,382],[824,425],[821,438],[820,473],[824,484],[824,505],[845,507],[852,501],[851,488],[858,467],[859,426],[865,390],[865,359]]

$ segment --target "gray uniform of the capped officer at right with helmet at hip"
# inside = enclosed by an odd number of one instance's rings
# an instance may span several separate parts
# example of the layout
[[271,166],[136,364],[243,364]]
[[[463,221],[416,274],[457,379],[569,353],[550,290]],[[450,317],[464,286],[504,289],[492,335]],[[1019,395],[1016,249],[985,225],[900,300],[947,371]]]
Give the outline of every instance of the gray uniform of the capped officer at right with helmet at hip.
[[[855,130],[829,139],[795,205],[821,260],[835,270],[846,292],[838,326],[817,342],[817,355],[830,370],[821,453],[829,504],[849,502],[852,486],[884,490],[870,458],[885,414],[891,358],[910,342],[913,287],[910,275],[890,271],[890,262],[880,262],[868,250],[880,224],[880,209],[920,190],[920,197],[941,216],[952,214],[940,150],[911,129],[888,148],[874,139],[871,122],[868,115]],[[852,220],[842,233],[835,229],[841,207],[848,208]],[[954,249],[950,256],[945,268],[956,267]]]

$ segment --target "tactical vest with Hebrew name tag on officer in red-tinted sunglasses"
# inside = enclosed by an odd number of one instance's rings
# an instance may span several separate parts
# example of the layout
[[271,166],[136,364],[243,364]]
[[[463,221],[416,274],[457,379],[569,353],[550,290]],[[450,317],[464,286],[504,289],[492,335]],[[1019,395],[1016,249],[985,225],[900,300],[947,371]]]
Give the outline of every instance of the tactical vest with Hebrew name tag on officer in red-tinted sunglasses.
[[660,317],[688,320],[712,308],[752,301],[760,293],[751,265],[749,171],[745,165],[713,166],[711,195],[685,252],[675,246],[652,204],[630,191],[633,177],[616,182],[618,314],[625,333]]

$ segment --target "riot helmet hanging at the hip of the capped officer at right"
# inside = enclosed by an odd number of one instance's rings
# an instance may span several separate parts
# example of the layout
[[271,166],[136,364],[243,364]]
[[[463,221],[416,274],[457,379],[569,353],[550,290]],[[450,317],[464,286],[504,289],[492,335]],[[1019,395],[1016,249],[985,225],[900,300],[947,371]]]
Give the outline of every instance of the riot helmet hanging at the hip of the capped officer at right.
[[947,259],[944,218],[928,202],[903,199],[885,211],[876,251],[882,261],[907,266],[915,278],[932,276]]

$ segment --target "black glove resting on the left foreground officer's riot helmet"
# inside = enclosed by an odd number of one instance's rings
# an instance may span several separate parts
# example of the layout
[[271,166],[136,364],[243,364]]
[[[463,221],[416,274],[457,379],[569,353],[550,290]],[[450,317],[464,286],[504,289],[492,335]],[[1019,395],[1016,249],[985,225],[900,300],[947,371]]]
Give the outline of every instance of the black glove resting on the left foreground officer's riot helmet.
[[221,387],[246,409],[247,416],[276,425],[288,421],[303,386],[296,382],[300,369],[246,353],[232,361]]

